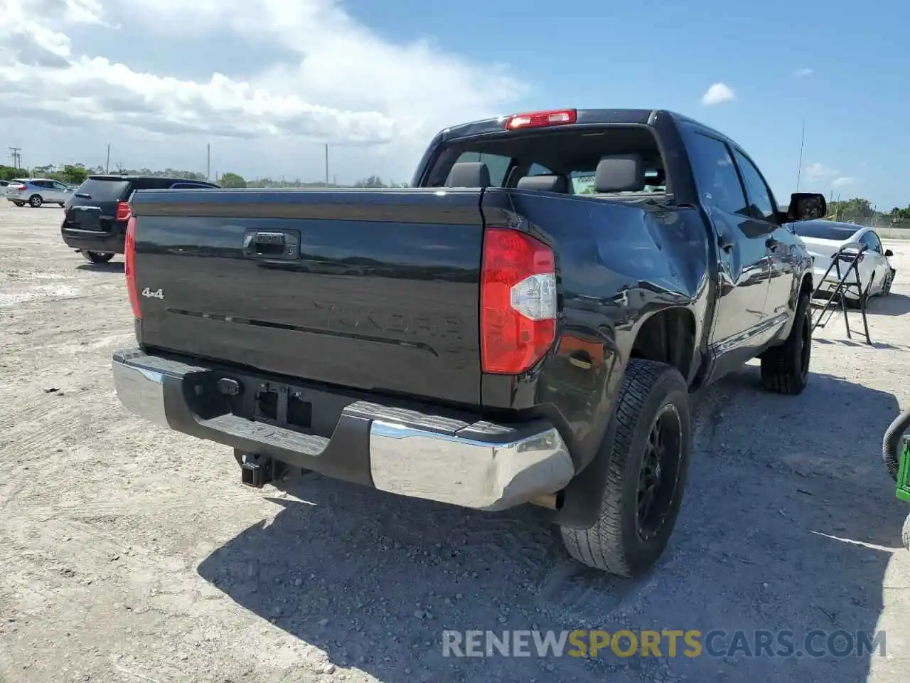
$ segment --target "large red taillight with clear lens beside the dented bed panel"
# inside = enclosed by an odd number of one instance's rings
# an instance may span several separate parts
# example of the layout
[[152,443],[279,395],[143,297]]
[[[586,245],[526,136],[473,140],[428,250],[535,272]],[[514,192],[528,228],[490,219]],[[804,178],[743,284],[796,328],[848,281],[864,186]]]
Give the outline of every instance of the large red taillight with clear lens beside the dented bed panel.
[[480,365],[483,372],[521,374],[556,338],[553,251],[518,230],[488,228],[480,267]]

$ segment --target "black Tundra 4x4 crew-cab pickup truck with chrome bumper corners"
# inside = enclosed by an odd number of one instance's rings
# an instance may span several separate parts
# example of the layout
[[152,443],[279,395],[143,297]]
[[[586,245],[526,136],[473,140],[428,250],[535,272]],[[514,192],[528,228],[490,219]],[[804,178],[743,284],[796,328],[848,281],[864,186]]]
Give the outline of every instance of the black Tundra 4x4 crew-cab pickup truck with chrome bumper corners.
[[[761,358],[799,393],[812,260],[742,148],[668,111],[440,132],[409,189],[142,190],[131,411],[288,468],[480,510],[539,505],[634,576],[671,535],[692,392]],[[402,502],[402,505],[407,505]]]

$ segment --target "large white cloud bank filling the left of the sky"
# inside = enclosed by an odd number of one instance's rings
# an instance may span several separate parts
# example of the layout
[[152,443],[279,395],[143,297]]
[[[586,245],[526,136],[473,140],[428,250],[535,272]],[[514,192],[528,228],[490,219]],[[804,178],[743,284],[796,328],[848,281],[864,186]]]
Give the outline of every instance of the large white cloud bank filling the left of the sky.
[[[378,36],[330,0],[0,0],[0,135],[26,164],[410,174],[445,125],[521,96],[505,67]],[[27,124],[25,124],[27,122]],[[8,161],[7,161],[8,163]]]

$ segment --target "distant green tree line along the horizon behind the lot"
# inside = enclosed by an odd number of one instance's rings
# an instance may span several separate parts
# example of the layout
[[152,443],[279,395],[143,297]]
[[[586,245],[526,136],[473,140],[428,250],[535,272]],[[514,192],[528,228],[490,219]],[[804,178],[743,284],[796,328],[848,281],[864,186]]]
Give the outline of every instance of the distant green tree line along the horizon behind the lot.
[[[106,172],[100,166],[87,167],[83,164],[64,164],[62,166],[39,166],[31,169],[13,168],[0,165],[0,179],[12,180],[31,176],[33,178],[53,178],[69,185],[80,185],[89,175],[102,175]],[[205,180],[206,174],[197,171],[165,168],[152,170],[151,168],[122,168],[114,170],[118,175],[136,176],[167,176],[168,178],[185,178],[187,180]],[[255,178],[247,179],[238,173],[222,173],[215,182],[222,188],[407,188],[408,183],[386,181],[379,176],[361,178],[350,185],[325,183],[324,181],[308,182],[299,178]],[[829,220],[854,222],[858,225],[877,225],[891,228],[910,228],[910,204],[905,208],[895,207],[890,211],[876,211],[869,199],[854,197],[844,201],[829,201]]]

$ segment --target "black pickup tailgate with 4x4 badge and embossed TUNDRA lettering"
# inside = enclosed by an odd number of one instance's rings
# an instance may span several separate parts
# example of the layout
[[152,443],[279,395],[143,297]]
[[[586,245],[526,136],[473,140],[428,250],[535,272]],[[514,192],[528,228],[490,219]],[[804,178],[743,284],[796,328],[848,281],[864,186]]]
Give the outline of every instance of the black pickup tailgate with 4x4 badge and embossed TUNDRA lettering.
[[480,189],[138,191],[139,341],[480,401]]

